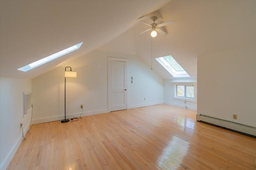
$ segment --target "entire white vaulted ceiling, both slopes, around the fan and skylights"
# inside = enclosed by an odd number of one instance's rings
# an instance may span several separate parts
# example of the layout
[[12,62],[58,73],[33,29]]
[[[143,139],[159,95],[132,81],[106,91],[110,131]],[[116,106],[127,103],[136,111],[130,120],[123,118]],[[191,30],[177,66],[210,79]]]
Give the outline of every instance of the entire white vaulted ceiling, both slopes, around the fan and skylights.
[[[159,9],[159,10],[158,10]],[[172,55],[192,78],[197,57],[256,47],[256,1],[1,1],[0,74],[34,78],[95,49],[138,55],[151,66],[150,31],[138,18],[158,10],[167,35],[152,38],[153,69],[173,78],[154,58]],[[144,21],[152,23],[145,19]],[[28,72],[38,59],[77,43],[79,50]]]

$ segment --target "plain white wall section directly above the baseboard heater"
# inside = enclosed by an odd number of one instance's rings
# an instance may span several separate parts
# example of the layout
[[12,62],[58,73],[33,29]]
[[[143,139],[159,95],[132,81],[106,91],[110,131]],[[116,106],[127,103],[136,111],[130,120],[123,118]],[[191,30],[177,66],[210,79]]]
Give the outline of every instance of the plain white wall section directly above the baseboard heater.
[[256,127],[256,47],[198,57],[198,113]]

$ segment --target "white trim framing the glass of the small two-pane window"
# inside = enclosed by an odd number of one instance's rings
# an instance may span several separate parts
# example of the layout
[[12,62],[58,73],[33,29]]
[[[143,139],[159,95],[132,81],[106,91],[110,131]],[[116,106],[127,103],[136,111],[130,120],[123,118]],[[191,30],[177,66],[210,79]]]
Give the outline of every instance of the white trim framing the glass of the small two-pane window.
[[[173,82],[173,85],[174,85],[173,99],[187,101],[187,102],[194,102],[194,103],[197,102],[197,83],[196,82]],[[177,85],[180,85],[180,86],[194,86],[194,99],[177,96],[176,95],[177,94],[176,93]]]

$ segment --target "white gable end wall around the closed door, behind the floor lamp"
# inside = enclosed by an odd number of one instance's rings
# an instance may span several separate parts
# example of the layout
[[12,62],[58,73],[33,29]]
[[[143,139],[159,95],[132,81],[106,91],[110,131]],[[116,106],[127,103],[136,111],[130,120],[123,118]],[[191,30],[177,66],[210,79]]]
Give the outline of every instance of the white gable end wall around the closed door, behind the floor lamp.
[[[64,119],[64,70],[71,66],[77,78],[66,79],[67,118],[108,112],[108,57],[129,59],[128,108],[163,103],[163,79],[136,55],[93,51],[32,80],[32,123]],[[133,76],[133,84],[130,77]],[[144,101],[146,98],[146,101]]]

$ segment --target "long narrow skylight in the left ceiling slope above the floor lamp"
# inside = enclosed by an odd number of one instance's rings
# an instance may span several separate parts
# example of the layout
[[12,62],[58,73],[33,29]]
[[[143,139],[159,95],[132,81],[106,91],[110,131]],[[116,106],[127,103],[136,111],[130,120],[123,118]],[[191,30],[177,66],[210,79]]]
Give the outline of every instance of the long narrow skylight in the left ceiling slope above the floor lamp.
[[67,49],[64,49],[64,50],[58,52],[58,53],[55,53],[53,55],[50,55],[48,57],[45,57],[45,58],[40,59],[38,61],[35,61],[34,63],[28,64],[28,65],[26,65],[24,67],[21,67],[21,68],[17,69],[17,70],[27,72],[27,71],[29,71],[29,70],[31,70],[33,68],[36,68],[36,67],[38,67],[38,66],[40,66],[42,64],[48,63],[49,61],[52,61],[54,59],[57,59],[57,58],[65,55],[65,54],[68,54],[68,53],[70,53],[72,51],[75,51],[75,50],[79,49],[80,46],[82,45],[82,43],[79,43],[77,45],[73,45],[72,47],[69,47]]

